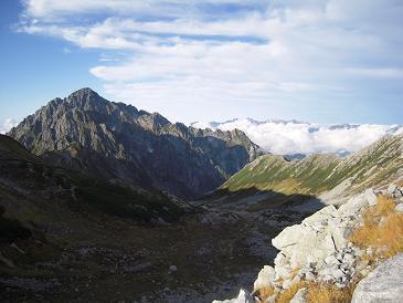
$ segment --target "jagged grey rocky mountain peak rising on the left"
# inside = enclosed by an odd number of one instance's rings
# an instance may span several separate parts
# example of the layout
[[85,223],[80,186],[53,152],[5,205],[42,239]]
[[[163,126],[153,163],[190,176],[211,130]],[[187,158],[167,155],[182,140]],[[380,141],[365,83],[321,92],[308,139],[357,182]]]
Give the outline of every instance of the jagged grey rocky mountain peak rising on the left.
[[51,101],[8,135],[57,165],[183,199],[215,189],[259,155],[238,129],[172,124],[91,88]]

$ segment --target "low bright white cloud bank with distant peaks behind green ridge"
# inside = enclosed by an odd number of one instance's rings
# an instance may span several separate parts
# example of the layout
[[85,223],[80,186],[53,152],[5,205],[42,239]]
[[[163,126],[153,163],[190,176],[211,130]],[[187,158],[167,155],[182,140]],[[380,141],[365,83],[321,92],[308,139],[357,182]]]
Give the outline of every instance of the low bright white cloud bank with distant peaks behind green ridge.
[[252,118],[223,123],[192,123],[194,127],[243,130],[267,153],[276,155],[311,155],[333,153],[347,156],[356,153],[385,135],[403,132],[402,125],[341,124],[322,125],[298,121]]

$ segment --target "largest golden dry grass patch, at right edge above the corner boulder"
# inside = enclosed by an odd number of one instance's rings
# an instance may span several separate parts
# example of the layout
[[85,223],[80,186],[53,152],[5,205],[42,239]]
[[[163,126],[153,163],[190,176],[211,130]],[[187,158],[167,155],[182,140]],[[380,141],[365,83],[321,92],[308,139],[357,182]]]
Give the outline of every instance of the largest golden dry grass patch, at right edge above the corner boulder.
[[394,212],[394,207],[390,197],[378,197],[377,206],[363,212],[363,226],[350,238],[350,241],[361,249],[382,249],[373,259],[391,258],[403,251],[403,213]]

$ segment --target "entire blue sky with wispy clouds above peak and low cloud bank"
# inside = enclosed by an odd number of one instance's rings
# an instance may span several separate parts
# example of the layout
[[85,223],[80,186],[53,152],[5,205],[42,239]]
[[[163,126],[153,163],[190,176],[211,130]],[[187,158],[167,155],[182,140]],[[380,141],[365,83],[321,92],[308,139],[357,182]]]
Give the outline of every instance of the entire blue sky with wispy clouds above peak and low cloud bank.
[[2,0],[0,132],[92,87],[172,122],[403,124],[402,0]]

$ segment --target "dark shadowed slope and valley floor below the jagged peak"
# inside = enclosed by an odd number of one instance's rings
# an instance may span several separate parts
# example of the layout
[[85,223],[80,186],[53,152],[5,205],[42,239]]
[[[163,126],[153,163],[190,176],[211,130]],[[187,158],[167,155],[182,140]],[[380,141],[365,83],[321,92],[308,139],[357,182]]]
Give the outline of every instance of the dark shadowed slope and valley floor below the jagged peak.
[[0,173],[1,302],[211,302],[252,279],[278,231],[56,166],[2,135]]

